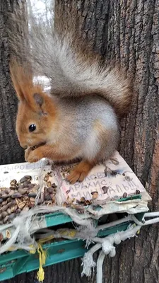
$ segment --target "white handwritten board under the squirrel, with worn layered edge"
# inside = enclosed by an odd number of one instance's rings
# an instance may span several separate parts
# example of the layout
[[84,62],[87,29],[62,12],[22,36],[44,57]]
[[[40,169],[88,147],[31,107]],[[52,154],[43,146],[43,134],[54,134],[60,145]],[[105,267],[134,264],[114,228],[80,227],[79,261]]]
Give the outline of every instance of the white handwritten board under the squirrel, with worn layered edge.
[[[102,207],[100,214],[110,214],[113,212],[146,212],[148,211],[148,201],[151,197],[146,192],[139,179],[131,168],[129,168],[124,158],[116,151],[112,158],[102,164],[95,166],[83,183],[69,184],[66,175],[76,163],[71,165],[45,165],[46,161],[37,163],[16,163],[0,166],[0,187],[8,186],[10,180],[20,180],[24,175],[31,175],[35,183],[40,183],[45,187],[45,175],[49,172],[51,183],[58,187],[56,201],[58,205],[64,202],[76,204],[84,198],[93,205]],[[132,199],[134,195],[141,195],[140,198]],[[130,197],[125,201],[126,197]],[[124,200],[121,200],[123,199]],[[120,201],[119,201],[120,200]]]

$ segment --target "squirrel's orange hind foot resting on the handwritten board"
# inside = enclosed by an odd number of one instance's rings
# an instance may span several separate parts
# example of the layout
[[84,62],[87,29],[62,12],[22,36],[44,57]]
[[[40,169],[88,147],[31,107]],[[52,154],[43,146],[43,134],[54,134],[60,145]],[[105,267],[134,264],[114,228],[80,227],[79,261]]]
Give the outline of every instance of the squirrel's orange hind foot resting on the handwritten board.
[[95,166],[95,162],[81,161],[76,165],[67,176],[66,180],[74,184],[76,182],[83,182],[90,170]]

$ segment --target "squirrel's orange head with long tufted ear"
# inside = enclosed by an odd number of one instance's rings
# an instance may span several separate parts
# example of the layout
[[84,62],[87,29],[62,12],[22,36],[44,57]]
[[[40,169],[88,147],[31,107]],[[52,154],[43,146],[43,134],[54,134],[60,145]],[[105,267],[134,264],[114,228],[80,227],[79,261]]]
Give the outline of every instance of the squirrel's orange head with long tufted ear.
[[[11,65],[11,79],[19,100],[16,132],[20,145],[25,148],[47,141],[57,115],[54,101],[42,91],[40,85],[34,85],[32,77],[15,62]],[[35,100],[35,93],[42,99],[42,105]],[[37,127],[35,133],[28,131],[32,124]]]

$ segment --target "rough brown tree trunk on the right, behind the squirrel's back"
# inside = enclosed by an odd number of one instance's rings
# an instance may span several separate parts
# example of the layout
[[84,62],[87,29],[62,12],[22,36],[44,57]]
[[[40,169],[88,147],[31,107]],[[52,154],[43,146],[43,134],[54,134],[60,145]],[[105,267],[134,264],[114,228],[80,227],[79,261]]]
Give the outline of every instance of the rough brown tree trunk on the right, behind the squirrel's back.
[[[131,113],[122,121],[120,153],[159,210],[159,1],[110,1],[107,56],[134,74]],[[158,224],[125,241],[105,260],[104,282],[159,282]],[[111,262],[111,263],[110,263]],[[115,270],[115,272],[114,272]]]

